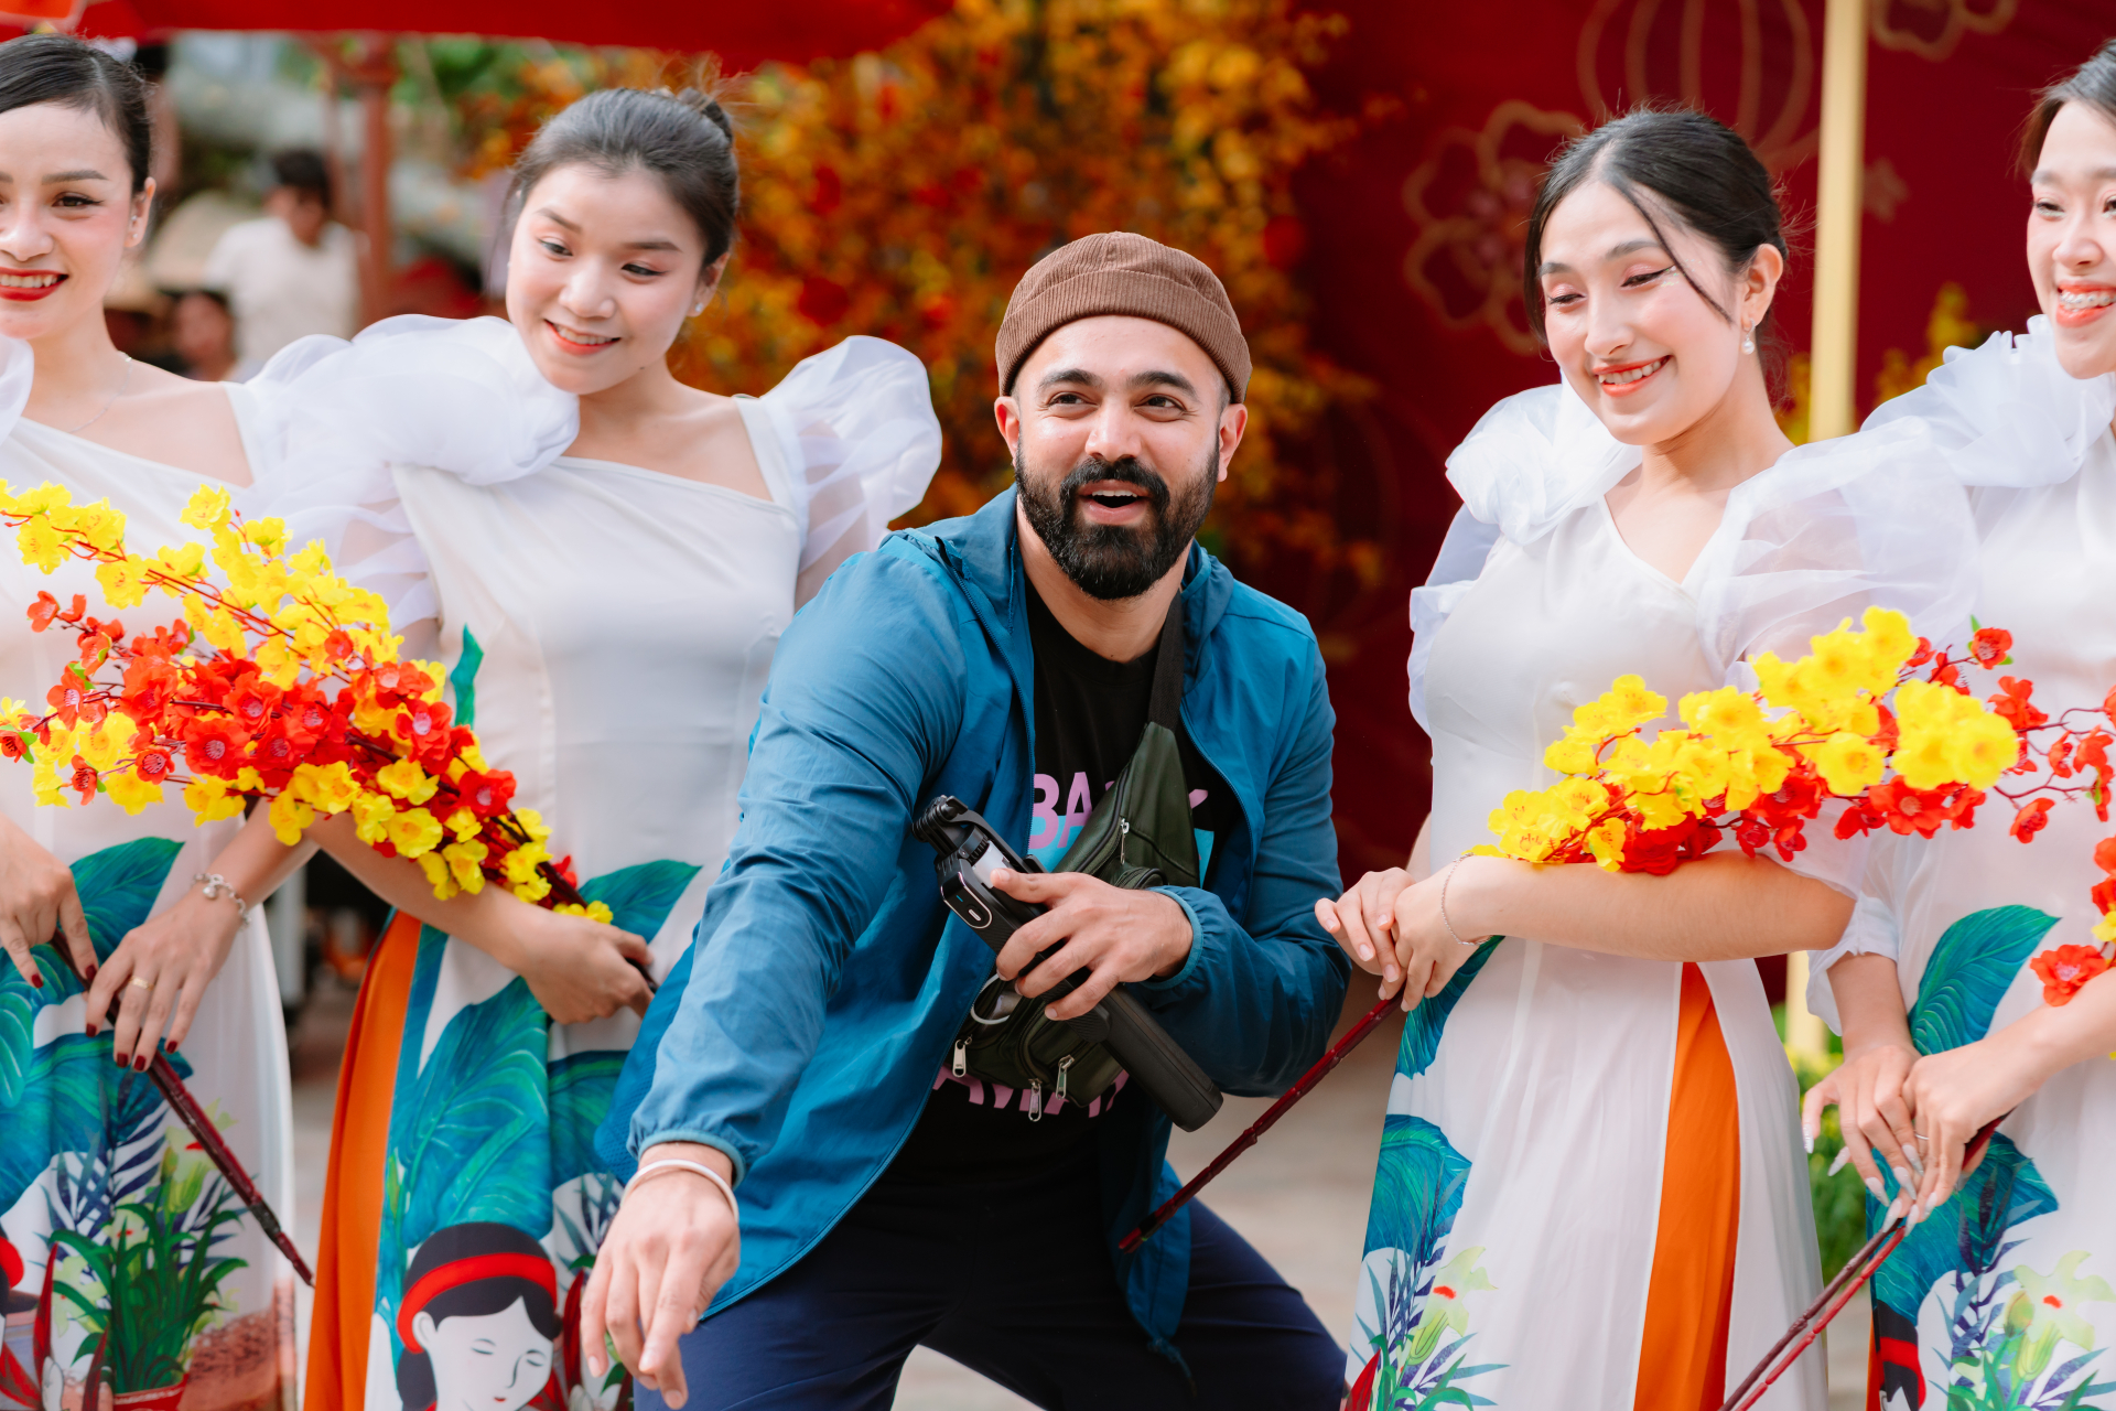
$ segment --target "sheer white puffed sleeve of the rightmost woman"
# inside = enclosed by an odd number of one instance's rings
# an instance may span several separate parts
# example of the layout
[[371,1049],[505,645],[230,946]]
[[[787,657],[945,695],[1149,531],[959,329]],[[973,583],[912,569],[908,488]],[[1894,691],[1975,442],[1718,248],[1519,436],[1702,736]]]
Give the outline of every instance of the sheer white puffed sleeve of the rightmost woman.
[[2116,417],[2116,372],[2076,379],[2057,362],[2050,322],[1995,332],[1978,349],[1947,349],[1923,387],[1883,402],[1868,432],[1917,423],[1957,484],[2023,489],[2078,474]]

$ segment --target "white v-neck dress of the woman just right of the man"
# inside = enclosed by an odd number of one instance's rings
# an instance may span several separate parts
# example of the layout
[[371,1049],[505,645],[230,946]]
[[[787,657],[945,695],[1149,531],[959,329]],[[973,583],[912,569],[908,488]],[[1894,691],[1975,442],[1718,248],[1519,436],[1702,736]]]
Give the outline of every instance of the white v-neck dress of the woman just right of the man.
[[[1411,599],[1433,857],[1488,842],[1509,789],[1547,787],[1545,747],[1619,675],[1667,696],[1672,719],[1682,694],[1741,681],[1746,656],[1799,656],[1868,603],[1921,630],[1953,622],[1966,601],[1945,565],[1966,512],[1900,503],[1911,472],[1894,451],[1788,453],[1733,491],[1678,584],[1623,544],[1604,499],[1638,451],[1568,387],[1488,413],[1449,459],[1464,510]],[[1828,819],[1811,833],[1794,869],[1852,891],[1860,848],[1830,840]],[[1813,1297],[1818,1257],[1794,1081],[1756,967],[1699,969],[1739,1094],[1733,1381]],[[1420,1398],[1443,1388],[1524,1411],[1634,1405],[1682,973],[1507,937],[1411,1015],[1348,1358],[1375,1411],[1437,1405]],[[1765,1400],[1822,1405],[1818,1358]]]

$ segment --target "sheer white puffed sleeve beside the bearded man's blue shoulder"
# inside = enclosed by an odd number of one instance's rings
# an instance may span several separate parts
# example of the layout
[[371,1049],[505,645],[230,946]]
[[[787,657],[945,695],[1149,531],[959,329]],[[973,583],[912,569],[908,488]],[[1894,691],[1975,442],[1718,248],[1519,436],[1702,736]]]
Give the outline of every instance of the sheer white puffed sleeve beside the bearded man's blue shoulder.
[[760,398],[791,468],[802,516],[796,603],[925,499],[940,468],[940,417],[925,364],[884,338],[855,336],[804,358]]

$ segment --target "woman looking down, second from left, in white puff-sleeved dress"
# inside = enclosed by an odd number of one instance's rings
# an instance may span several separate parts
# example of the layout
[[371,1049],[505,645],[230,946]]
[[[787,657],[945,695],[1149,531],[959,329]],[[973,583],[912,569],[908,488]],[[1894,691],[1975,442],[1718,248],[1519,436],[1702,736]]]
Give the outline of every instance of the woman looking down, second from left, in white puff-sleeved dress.
[[[597,1125],[726,855],[781,630],[940,461],[925,368],[876,338],[764,398],[669,374],[730,258],[736,190],[717,102],[595,93],[516,167],[508,322],[391,319],[260,377],[288,472],[256,508],[440,658],[434,726],[474,723],[588,910],[527,905],[455,842],[387,857],[387,821],[313,825],[400,918],[341,1070],[311,1405],[626,1405],[578,1331],[622,1199]],[[550,1386],[512,1371],[548,1324]],[[504,1356],[472,1354],[489,1335]]]

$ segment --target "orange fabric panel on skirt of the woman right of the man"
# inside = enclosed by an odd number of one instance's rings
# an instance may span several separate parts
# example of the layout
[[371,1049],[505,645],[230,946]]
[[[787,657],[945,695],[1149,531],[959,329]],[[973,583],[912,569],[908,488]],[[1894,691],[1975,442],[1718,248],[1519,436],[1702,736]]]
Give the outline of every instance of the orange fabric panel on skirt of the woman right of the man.
[[1741,1104],[1712,988],[1682,967],[1667,1159],[1636,1411],[1718,1411],[1727,1400],[1733,1250],[1741,1229]]

